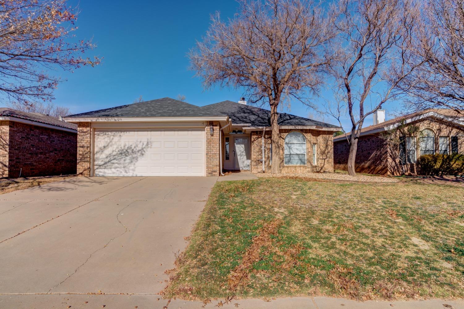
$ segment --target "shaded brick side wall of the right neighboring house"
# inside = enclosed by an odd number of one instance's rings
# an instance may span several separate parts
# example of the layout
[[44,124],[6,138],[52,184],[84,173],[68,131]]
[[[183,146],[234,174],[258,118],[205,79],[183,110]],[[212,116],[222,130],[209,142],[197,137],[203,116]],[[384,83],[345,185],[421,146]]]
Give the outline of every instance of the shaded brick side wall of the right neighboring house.
[[[348,170],[349,145],[346,140],[334,142],[334,168]],[[387,144],[377,135],[361,136],[355,159],[356,172],[388,174]]]

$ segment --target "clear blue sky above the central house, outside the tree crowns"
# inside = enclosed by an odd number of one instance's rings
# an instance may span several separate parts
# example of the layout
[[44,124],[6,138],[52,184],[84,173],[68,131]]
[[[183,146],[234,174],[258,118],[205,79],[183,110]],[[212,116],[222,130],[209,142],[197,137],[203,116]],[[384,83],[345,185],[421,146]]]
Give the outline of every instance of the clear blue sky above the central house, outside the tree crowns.
[[[95,68],[83,67],[73,73],[54,72],[65,79],[55,91],[55,104],[80,113],[132,103],[139,96],[151,100],[182,94],[188,103],[200,106],[223,100],[237,101],[242,96],[240,89],[203,90],[200,79],[188,70],[186,57],[195,40],[200,40],[206,32],[210,14],[220,11],[223,18],[232,17],[237,11],[236,1],[132,1],[128,4],[122,0],[111,3],[71,0],[70,4],[78,4],[80,9],[77,39],[93,38],[97,48],[89,56],[103,57],[103,62]],[[323,104],[327,96],[330,91],[324,91],[316,103]],[[297,102],[291,104],[291,110],[284,111],[304,117],[311,113]],[[330,117],[325,121],[338,124]],[[365,126],[372,124],[372,117],[365,123]]]

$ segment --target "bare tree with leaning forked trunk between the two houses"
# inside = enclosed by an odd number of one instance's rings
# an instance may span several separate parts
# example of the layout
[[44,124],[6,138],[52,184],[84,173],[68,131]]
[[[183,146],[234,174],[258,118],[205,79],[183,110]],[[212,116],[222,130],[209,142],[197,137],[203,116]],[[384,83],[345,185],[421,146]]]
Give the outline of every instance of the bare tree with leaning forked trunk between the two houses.
[[420,12],[412,0],[340,0],[338,10],[341,48],[332,66],[337,87],[329,113],[339,122],[348,113],[348,173],[355,175],[364,120],[387,101],[403,97],[406,90],[397,85],[423,63],[415,60],[413,48]]

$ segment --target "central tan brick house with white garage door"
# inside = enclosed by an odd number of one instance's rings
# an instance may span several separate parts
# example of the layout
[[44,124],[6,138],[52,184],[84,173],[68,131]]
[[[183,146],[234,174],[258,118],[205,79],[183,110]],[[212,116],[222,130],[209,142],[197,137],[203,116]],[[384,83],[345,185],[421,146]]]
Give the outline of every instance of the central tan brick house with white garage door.
[[[196,106],[171,98],[67,116],[77,124],[84,176],[218,176],[269,172],[270,111],[238,102]],[[337,126],[280,113],[283,172],[333,171]]]

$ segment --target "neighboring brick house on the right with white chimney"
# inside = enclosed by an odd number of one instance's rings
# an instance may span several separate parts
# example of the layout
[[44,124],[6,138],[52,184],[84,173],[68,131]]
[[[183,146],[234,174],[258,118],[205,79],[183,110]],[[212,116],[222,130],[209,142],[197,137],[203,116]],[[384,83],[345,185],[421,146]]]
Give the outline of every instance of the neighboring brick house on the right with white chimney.
[[[361,129],[356,152],[356,172],[367,174],[418,174],[417,158],[422,154],[464,153],[464,113],[451,109],[426,109],[383,121],[385,111],[374,114],[378,123]],[[418,134],[408,136],[398,128],[414,126]],[[398,143],[388,142],[386,133]],[[419,137],[420,136],[420,137]],[[348,134],[349,138],[349,134]],[[348,170],[349,145],[346,135],[334,140],[334,168]],[[417,141],[417,142],[416,142]]]

